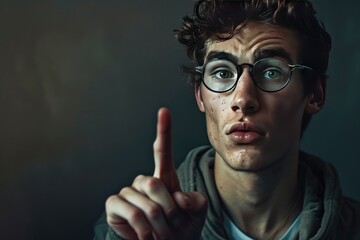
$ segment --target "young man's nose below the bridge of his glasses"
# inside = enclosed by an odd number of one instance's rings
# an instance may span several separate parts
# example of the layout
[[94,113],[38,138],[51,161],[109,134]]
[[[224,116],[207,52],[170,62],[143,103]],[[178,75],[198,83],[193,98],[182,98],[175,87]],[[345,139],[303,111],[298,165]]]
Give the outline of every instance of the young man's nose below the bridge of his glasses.
[[231,109],[249,115],[260,109],[259,90],[252,80],[249,68],[244,68],[233,90]]

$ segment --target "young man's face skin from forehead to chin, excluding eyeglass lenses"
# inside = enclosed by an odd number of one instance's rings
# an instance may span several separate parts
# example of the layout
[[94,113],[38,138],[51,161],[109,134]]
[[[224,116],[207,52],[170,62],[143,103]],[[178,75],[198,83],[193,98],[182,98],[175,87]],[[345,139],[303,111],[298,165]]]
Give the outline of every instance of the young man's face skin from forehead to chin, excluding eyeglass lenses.
[[[236,58],[237,64],[268,57],[301,64],[298,50],[295,32],[249,22],[233,38],[210,42],[205,62],[209,53],[225,52]],[[235,170],[259,171],[298,154],[303,113],[319,110],[312,108],[311,94],[304,96],[300,71],[294,70],[289,84],[278,92],[258,89],[248,67],[228,92],[215,93],[201,84],[195,95],[206,114],[216,161],[222,159]]]

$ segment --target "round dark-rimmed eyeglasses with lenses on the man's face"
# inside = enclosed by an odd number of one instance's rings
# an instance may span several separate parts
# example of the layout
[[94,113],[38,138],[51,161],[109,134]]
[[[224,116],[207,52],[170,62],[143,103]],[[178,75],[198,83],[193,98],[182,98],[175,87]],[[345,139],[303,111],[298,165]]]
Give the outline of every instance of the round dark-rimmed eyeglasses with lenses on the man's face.
[[202,76],[202,82],[210,91],[223,93],[235,88],[243,67],[248,66],[255,85],[265,92],[277,92],[290,82],[294,69],[312,68],[300,64],[287,64],[276,58],[264,58],[254,64],[236,65],[229,60],[212,60],[195,68]]

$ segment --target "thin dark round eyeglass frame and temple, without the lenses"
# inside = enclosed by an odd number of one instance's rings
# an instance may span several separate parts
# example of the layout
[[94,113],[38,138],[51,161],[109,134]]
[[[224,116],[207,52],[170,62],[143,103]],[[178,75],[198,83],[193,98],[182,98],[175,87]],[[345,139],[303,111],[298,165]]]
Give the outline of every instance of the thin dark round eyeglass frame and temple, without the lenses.
[[[249,73],[250,73],[251,79],[252,79],[252,81],[254,82],[255,86],[256,86],[258,89],[260,89],[261,91],[264,91],[264,92],[278,92],[278,91],[281,91],[282,89],[284,89],[284,88],[289,84],[289,82],[290,82],[290,80],[291,80],[292,72],[293,72],[294,69],[308,69],[308,70],[314,71],[313,68],[308,67],[308,66],[305,66],[305,65],[302,65],[302,64],[288,64],[288,63],[286,63],[285,65],[290,69],[290,74],[289,74],[288,79],[287,79],[286,82],[284,83],[284,86],[282,86],[280,89],[277,89],[277,90],[265,90],[265,89],[262,89],[261,87],[259,87],[259,85],[258,85],[257,82],[255,81],[255,78],[254,78],[254,75],[253,75],[253,71],[252,71],[252,70],[253,70],[254,66],[255,66],[257,63],[259,63],[259,62],[261,62],[261,61],[264,61],[264,60],[269,60],[269,59],[274,59],[274,58],[262,58],[262,59],[259,59],[259,60],[257,60],[256,62],[254,62],[254,63],[252,63],[252,64],[251,64],[251,63],[236,64],[236,63],[234,63],[233,61],[226,60],[226,61],[228,61],[228,62],[230,62],[230,63],[232,63],[232,64],[235,65],[238,76],[237,76],[236,81],[234,82],[234,85],[231,86],[228,90],[225,90],[225,91],[216,91],[216,90],[213,90],[213,89],[211,89],[209,86],[207,86],[206,83],[205,83],[205,80],[204,80],[204,69],[205,69],[206,65],[207,65],[209,62],[213,62],[213,60],[204,63],[202,66],[196,66],[196,67],[195,67],[195,71],[201,74],[201,82],[204,84],[204,86],[205,86],[207,89],[209,89],[210,91],[215,92],[215,93],[224,93],[224,92],[229,92],[229,91],[235,89],[235,88],[236,88],[236,85],[237,85],[237,83],[238,83],[238,81],[239,81],[239,79],[240,79],[240,76],[242,75],[242,73],[243,73],[243,71],[244,71],[243,66],[248,66],[248,67],[249,67]],[[280,61],[281,61],[281,60],[280,60]],[[240,71],[240,70],[241,70],[241,71]],[[240,72],[241,74],[239,74],[239,72]]]

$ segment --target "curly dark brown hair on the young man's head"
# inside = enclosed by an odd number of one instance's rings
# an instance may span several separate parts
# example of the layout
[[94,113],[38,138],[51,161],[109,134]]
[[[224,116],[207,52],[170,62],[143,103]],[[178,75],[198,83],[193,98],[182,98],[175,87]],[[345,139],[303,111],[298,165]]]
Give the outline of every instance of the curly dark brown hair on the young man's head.
[[[187,47],[187,55],[195,66],[204,63],[208,40],[227,40],[249,21],[266,22],[294,30],[300,42],[301,64],[312,67],[316,74],[303,71],[304,94],[315,86],[316,79],[326,85],[331,37],[324,24],[316,18],[308,0],[200,0],[191,16],[183,18],[181,29],[175,30],[178,41]],[[184,66],[190,84],[197,89],[201,76],[195,66]],[[311,115],[304,113],[302,127],[307,127]]]

